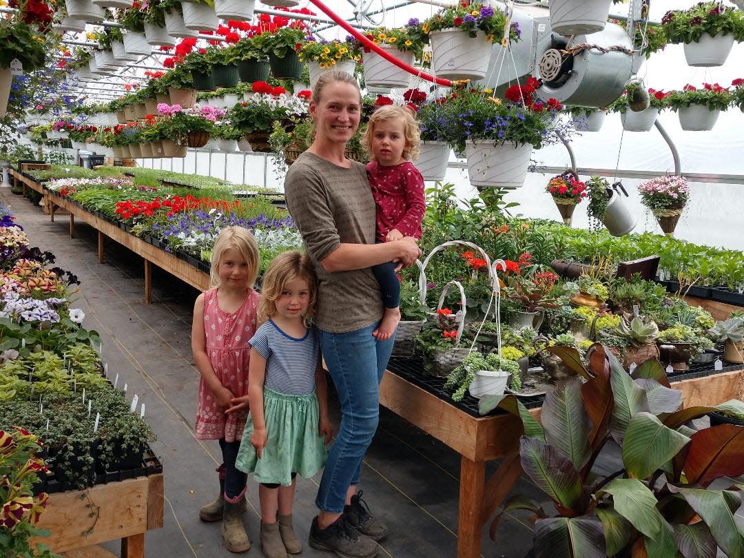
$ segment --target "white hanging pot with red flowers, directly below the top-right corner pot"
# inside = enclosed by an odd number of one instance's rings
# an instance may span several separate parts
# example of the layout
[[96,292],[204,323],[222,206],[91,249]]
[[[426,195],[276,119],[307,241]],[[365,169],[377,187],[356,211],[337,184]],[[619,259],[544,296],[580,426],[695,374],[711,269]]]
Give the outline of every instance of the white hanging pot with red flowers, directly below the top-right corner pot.
[[718,83],[704,83],[702,89],[687,84],[669,96],[669,106],[679,114],[680,126],[689,131],[713,129],[720,112],[730,103],[731,93]]

